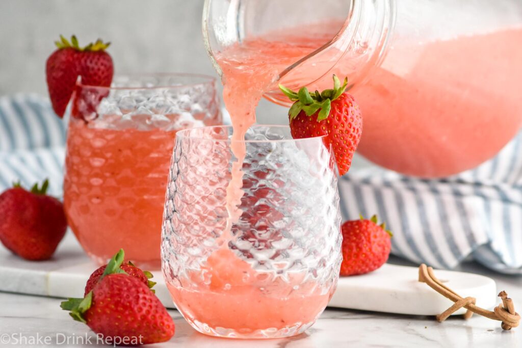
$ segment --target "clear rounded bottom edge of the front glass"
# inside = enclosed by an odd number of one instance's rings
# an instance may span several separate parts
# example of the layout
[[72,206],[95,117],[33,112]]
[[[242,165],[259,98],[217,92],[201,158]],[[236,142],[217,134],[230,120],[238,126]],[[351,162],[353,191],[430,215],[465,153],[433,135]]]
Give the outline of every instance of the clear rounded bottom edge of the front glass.
[[248,330],[247,332],[240,332],[234,329],[227,328],[211,328],[206,323],[194,320],[188,320],[185,318],[188,323],[196,329],[198,332],[204,333],[209,336],[215,337],[223,337],[223,338],[233,338],[233,339],[246,339],[246,340],[256,340],[256,339],[276,339],[276,338],[284,338],[284,337],[292,337],[299,335],[306,331],[306,329],[310,328],[314,325],[315,320],[309,323],[296,323],[294,326],[285,327],[281,329],[277,328],[268,328],[268,329],[259,329],[259,330]]

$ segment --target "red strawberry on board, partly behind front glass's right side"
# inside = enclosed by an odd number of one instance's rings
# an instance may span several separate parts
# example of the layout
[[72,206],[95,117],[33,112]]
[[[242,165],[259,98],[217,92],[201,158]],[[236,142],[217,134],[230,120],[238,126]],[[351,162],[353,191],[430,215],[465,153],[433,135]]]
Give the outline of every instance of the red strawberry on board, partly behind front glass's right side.
[[342,263],[341,275],[364,274],[376,270],[388,260],[392,248],[392,233],[383,223],[377,225],[377,217],[370,220],[346,221],[341,226]]

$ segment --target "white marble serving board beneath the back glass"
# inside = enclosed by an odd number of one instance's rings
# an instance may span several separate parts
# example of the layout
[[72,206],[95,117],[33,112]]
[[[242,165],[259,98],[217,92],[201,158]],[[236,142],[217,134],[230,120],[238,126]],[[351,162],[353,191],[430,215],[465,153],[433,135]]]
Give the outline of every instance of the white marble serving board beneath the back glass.
[[[85,283],[97,266],[84,254],[70,231],[53,259],[22,260],[0,246],[0,291],[53,297],[80,297]],[[174,308],[161,271],[152,271],[156,294]],[[493,308],[497,302],[496,284],[482,275],[436,271],[437,278],[461,296],[477,298],[477,305]],[[365,275],[343,277],[329,306],[397,314],[436,315],[452,305],[424,283],[417,281],[415,267],[384,265]],[[456,314],[462,314],[464,310]]]

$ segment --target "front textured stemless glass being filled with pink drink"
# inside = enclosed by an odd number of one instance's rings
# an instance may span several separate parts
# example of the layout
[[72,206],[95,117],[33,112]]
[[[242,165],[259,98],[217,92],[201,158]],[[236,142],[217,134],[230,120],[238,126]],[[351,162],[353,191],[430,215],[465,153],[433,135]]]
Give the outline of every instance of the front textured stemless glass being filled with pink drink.
[[[302,333],[333,294],[341,262],[337,172],[323,138],[253,126],[176,135],[162,227],[162,269],[198,331],[232,338]],[[241,190],[230,189],[245,150]],[[240,202],[229,221],[227,202]],[[229,224],[230,223],[230,224]],[[231,229],[228,229],[231,226]]]

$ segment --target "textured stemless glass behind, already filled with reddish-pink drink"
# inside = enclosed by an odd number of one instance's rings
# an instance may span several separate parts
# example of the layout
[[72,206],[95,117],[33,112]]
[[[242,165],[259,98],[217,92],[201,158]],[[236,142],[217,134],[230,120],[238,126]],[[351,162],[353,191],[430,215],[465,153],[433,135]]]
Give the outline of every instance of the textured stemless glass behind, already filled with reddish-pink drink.
[[87,254],[158,268],[161,215],[176,131],[221,123],[215,79],[194,74],[115,77],[77,86],[67,134],[64,206]]

